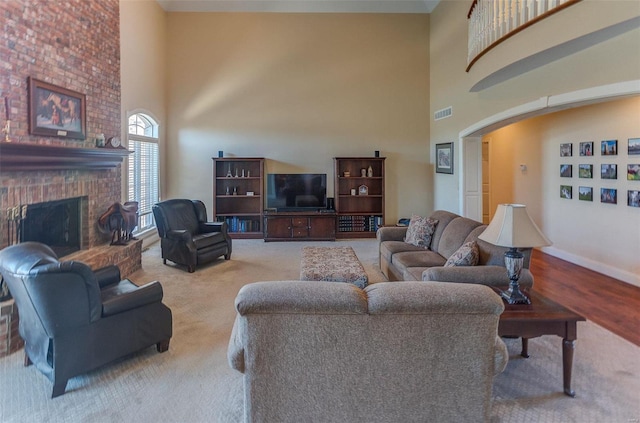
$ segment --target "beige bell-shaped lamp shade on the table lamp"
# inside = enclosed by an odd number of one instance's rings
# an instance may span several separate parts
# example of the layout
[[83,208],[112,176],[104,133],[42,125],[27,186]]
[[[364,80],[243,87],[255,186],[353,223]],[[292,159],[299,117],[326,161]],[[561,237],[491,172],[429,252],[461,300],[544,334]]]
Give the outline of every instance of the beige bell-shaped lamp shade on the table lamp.
[[551,241],[540,232],[529,216],[524,204],[499,204],[491,223],[478,239],[510,248],[551,245]]

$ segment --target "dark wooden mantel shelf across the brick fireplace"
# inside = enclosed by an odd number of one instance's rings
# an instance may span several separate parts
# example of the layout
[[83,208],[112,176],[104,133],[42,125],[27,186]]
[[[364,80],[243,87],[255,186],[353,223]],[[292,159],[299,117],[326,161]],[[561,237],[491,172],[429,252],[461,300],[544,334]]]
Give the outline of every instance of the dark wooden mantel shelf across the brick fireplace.
[[109,169],[130,153],[126,149],[0,142],[0,171]]

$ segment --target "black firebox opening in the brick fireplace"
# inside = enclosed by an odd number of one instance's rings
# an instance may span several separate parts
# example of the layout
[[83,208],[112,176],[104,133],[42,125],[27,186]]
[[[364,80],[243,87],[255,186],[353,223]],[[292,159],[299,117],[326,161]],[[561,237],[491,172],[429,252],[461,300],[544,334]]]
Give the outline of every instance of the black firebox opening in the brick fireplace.
[[58,257],[80,249],[80,198],[29,204],[20,241],[47,244]]

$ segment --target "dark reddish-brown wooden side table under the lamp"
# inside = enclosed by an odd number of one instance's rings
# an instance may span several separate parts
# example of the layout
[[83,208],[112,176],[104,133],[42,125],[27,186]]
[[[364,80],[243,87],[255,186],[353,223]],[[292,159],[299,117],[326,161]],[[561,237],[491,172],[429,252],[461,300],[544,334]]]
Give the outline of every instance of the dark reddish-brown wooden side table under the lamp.
[[535,291],[527,292],[531,304],[506,304],[500,316],[498,335],[522,338],[521,355],[529,357],[529,338],[558,335],[562,338],[562,369],[564,393],[576,395],[571,389],[573,351],[577,339],[577,322],[585,321],[581,315],[551,301]]

